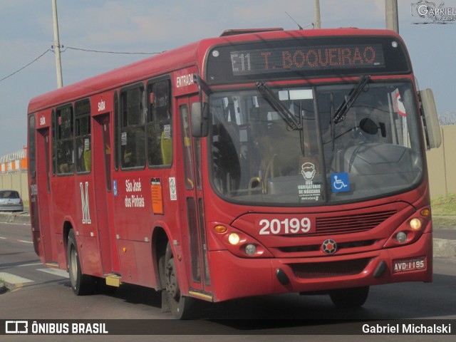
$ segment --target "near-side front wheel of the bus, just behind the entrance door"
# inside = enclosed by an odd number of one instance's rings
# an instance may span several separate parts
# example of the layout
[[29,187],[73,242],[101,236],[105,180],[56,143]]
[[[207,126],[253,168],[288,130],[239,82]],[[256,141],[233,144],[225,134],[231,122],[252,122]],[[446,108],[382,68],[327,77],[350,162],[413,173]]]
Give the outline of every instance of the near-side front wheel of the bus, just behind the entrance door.
[[169,309],[177,319],[189,319],[192,316],[191,306],[193,299],[182,296],[180,293],[179,279],[177,278],[177,268],[175,258],[172,255],[170,243],[167,243],[166,252],[158,261],[160,272],[160,284],[162,285],[162,307],[164,311]]

